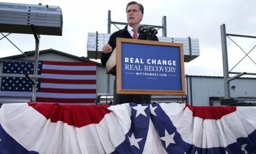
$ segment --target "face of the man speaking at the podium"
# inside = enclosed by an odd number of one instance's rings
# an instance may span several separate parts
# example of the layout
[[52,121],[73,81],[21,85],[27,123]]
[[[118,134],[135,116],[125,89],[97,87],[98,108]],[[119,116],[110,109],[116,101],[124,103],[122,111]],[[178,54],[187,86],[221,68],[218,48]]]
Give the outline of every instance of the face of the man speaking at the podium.
[[130,6],[128,6],[126,15],[128,25],[132,26],[133,28],[141,23],[143,17],[142,12],[139,10],[139,6],[136,4],[131,4]]

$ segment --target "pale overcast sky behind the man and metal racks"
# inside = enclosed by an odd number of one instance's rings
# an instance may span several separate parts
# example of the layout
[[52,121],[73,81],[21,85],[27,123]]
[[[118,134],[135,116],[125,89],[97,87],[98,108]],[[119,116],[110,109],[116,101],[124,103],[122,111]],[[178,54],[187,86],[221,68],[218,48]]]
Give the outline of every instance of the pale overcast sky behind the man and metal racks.
[[[37,1],[0,0],[22,4],[59,6],[63,14],[62,36],[41,35],[39,50],[55,49],[78,57],[87,56],[87,34],[107,33],[107,12],[111,10],[112,21],[126,22],[125,7],[130,1]],[[255,0],[141,0],[144,6],[142,24],[162,25],[167,16],[167,36],[197,38],[200,56],[185,63],[186,75],[223,76],[220,25],[225,23],[226,33],[256,36]],[[118,29],[112,25],[112,32]],[[6,33],[5,33],[6,34]],[[159,31],[158,36],[162,35]],[[2,38],[2,35],[0,35]],[[35,51],[32,34],[10,34],[8,38],[23,52]],[[256,39],[231,37],[247,53],[256,45]],[[244,52],[230,39],[228,42],[229,70],[244,57]],[[0,57],[21,54],[6,39],[0,41]],[[256,73],[256,49],[237,65],[233,71]],[[252,76],[254,77],[254,76]]]

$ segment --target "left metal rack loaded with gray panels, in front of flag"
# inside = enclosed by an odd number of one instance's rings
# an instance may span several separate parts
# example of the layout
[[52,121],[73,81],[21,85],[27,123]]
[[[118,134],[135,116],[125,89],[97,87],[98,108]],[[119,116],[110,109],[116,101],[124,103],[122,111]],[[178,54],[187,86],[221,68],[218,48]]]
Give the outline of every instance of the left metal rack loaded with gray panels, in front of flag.
[[[62,25],[62,11],[60,7],[48,5],[42,6],[41,4],[33,5],[0,2],[0,32],[3,36],[1,39],[8,39],[7,36],[9,36],[10,33],[33,34],[35,37],[33,75],[0,74],[0,76],[28,78],[30,83],[33,85],[31,98],[33,102],[36,102],[36,80],[43,77],[38,75],[37,72],[40,34],[61,36]],[[4,35],[3,33],[8,34]],[[8,41],[10,40],[8,39]],[[12,42],[10,41],[10,43]],[[12,45],[15,46],[14,43],[12,43]],[[15,47],[19,49],[17,46]],[[25,57],[27,56],[25,55]]]

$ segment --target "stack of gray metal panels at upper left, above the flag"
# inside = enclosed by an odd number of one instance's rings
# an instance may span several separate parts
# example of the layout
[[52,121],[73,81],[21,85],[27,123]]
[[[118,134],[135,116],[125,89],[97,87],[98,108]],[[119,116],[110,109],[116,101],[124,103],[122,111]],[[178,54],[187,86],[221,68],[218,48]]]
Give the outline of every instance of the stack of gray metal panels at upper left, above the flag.
[[0,2],[0,32],[62,35],[62,11],[57,6]]

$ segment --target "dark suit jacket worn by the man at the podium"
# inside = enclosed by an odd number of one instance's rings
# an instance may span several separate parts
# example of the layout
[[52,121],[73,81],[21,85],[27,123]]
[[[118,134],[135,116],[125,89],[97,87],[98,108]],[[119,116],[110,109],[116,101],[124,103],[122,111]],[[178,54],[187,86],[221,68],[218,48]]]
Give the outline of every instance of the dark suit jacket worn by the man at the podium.
[[[117,43],[116,43],[117,38],[130,38],[130,39],[133,39],[131,37],[130,33],[128,32],[128,30],[127,30],[127,25],[125,26],[125,28],[123,28],[123,30],[116,31],[115,33],[113,33],[110,36],[108,44],[112,47],[113,50],[117,46]],[[139,34],[139,38],[138,39],[146,40],[147,36],[146,36],[146,34]],[[154,36],[151,40],[152,41],[159,41],[157,36]],[[102,53],[102,57],[101,57],[102,65],[105,66],[105,64],[107,63],[107,60],[109,60],[109,57],[110,57],[111,54],[112,54],[112,52],[110,52],[109,54]]]

